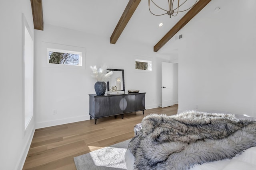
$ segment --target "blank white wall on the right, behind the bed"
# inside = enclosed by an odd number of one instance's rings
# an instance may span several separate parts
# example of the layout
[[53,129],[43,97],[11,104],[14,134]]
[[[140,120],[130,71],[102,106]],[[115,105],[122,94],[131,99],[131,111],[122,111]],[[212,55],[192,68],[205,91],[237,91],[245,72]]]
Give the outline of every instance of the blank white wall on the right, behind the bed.
[[179,49],[179,111],[256,117],[255,8],[255,0],[211,1],[177,33],[182,40],[168,42]]

